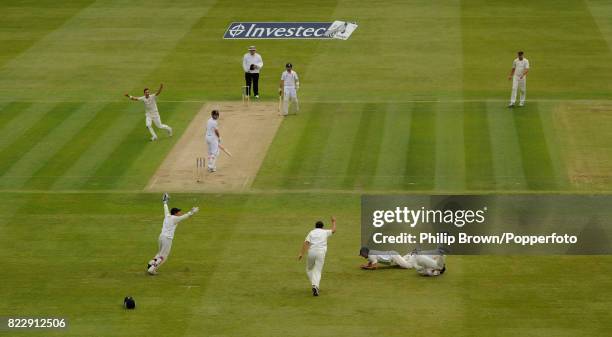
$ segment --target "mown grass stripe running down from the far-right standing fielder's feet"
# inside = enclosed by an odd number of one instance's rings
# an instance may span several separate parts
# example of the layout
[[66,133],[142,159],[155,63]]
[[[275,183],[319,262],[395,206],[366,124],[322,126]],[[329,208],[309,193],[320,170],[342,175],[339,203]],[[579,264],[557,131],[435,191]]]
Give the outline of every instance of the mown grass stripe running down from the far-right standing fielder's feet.
[[557,181],[546,143],[538,103],[530,103],[512,110],[521,148],[527,188],[554,190]]

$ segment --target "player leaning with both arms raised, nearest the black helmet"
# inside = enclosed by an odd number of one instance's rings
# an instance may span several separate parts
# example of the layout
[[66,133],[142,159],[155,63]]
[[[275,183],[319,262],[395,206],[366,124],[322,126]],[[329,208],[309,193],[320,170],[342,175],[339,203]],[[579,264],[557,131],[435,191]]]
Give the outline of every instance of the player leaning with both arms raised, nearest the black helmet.
[[183,214],[180,209],[172,208],[168,210],[168,200],[170,197],[167,193],[164,193],[162,202],[164,203],[164,224],[162,226],[161,234],[158,239],[158,251],[155,257],[147,264],[147,272],[149,275],[156,275],[157,269],[168,259],[170,254],[170,248],[172,248],[172,239],[174,238],[174,231],[179,222],[191,217],[196,214],[200,208],[193,207],[187,214]]

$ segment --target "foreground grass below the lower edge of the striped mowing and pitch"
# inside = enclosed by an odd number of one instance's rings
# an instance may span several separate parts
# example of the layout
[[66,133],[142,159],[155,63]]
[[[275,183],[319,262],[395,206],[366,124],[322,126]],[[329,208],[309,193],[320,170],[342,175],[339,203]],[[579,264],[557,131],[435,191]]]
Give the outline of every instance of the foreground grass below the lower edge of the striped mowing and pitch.
[[[358,196],[172,201],[200,203],[202,212],[179,226],[160,275],[147,277],[162,218],[157,194],[9,194],[0,254],[10,277],[0,285],[0,313],[69,319],[68,330],[45,336],[405,336],[421,328],[423,335],[600,336],[612,328],[609,257],[451,256],[437,279],[366,272],[355,244]],[[322,296],[313,298],[297,251],[312,222],[332,213],[339,230]],[[127,294],[134,312],[121,309]]]

